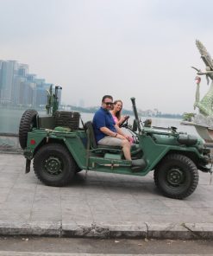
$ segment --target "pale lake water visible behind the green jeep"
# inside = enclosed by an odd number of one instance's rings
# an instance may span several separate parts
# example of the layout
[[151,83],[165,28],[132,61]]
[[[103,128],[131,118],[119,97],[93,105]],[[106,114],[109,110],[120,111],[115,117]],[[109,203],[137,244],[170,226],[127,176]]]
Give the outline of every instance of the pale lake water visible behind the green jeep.
[[[24,110],[14,110],[14,109],[3,109],[0,108],[0,133],[1,132],[11,132],[18,133],[20,119],[22,118],[22,113]],[[45,112],[39,112],[40,115],[44,115]],[[84,122],[91,120],[93,117],[92,113],[81,113],[81,118]],[[128,123],[132,124],[134,117],[130,117]],[[141,117],[141,121],[146,120],[145,117]],[[153,126],[160,127],[171,127],[175,126],[178,131],[187,132],[189,134],[197,135],[197,131],[191,125],[180,125],[180,119],[173,118],[152,118]],[[198,135],[197,135],[198,136]]]

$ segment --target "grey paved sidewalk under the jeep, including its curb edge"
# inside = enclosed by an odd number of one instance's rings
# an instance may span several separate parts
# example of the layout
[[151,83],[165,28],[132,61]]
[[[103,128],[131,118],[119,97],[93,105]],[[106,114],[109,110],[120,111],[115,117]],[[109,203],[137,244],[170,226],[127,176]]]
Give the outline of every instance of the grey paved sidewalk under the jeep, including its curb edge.
[[0,154],[0,235],[213,239],[213,181],[199,172],[185,200],[160,195],[145,177],[78,173],[71,185],[43,185],[25,159]]

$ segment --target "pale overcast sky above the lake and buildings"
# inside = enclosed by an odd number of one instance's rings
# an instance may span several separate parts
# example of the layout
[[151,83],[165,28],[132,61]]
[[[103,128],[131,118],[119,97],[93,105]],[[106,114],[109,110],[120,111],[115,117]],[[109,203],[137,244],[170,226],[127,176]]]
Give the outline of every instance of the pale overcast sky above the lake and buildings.
[[[0,60],[62,86],[62,103],[131,97],[141,110],[193,109],[196,39],[213,55],[211,0],[0,0]],[[201,97],[208,91],[205,78]]]

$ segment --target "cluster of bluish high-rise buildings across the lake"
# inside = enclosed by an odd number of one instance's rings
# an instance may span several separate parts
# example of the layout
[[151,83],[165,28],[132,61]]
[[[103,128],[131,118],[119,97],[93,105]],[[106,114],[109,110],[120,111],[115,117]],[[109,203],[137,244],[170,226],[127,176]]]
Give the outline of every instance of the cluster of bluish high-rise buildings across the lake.
[[0,60],[0,104],[3,106],[45,106],[47,90],[45,79],[28,73],[28,64]]

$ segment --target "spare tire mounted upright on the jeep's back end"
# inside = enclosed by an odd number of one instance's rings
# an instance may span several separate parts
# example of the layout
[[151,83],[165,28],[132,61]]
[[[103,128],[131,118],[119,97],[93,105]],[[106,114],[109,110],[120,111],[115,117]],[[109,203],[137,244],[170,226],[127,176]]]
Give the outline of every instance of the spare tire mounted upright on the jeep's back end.
[[25,149],[28,142],[28,131],[36,126],[36,116],[38,112],[34,109],[28,109],[22,114],[19,125],[19,144]]

